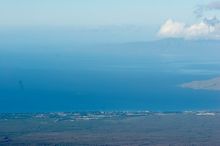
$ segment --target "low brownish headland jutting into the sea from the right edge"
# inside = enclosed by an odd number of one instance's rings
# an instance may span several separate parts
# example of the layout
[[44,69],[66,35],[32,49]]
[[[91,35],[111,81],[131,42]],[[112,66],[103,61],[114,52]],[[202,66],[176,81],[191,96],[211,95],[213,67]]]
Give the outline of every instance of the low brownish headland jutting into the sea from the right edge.
[[195,90],[217,90],[220,91],[220,77],[204,80],[204,81],[193,81],[190,83],[184,83],[181,85],[183,88],[191,88]]

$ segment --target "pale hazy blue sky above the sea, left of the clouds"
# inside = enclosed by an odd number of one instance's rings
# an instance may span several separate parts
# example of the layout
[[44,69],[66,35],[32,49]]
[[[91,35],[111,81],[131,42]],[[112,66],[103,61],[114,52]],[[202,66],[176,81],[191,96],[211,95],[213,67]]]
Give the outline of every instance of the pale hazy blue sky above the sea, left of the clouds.
[[194,10],[209,2],[212,0],[0,0],[0,28],[95,29],[115,32],[124,41],[149,40],[168,19],[187,24],[201,21]]

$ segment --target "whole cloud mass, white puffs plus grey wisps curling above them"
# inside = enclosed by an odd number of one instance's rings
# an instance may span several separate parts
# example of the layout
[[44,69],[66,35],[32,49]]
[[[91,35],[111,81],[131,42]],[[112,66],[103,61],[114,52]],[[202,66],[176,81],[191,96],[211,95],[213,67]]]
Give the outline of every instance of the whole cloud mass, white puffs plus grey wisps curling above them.
[[161,38],[184,39],[214,39],[220,40],[220,20],[214,16],[206,16],[209,11],[220,11],[220,1],[199,5],[194,14],[202,19],[199,23],[186,24],[185,22],[168,19],[158,32]]

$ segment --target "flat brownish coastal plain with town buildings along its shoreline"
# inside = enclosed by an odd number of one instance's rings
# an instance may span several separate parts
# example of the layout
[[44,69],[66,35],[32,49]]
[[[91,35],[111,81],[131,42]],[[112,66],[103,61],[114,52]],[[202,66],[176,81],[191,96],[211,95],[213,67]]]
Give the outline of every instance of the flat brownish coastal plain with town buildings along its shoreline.
[[218,112],[0,114],[1,146],[219,146]]

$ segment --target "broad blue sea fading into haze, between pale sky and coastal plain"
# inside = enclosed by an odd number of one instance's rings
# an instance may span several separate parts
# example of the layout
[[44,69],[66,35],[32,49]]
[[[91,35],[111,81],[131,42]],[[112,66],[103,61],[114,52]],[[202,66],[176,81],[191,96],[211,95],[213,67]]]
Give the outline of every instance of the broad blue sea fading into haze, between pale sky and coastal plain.
[[0,42],[0,112],[219,110],[220,92],[181,84],[220,76],[218,41]]

